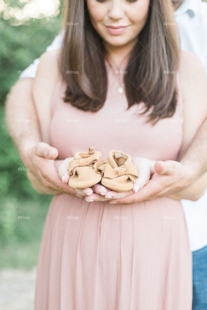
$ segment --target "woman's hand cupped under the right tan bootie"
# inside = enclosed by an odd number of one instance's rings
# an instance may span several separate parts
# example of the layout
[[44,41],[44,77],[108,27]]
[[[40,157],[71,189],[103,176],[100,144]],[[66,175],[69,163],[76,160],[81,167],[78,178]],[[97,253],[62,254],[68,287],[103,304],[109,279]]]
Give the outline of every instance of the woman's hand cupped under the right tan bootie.
[[[105,188],[107,193],[102,196],[97,193],[97,189],[99,190],[100,185],[96,184],[92,188],[94,189],[95,193],[92,195],[85,197],[86,201],[108,201],[112,199],[121,199],[127,197],[133,193],[137,193],[140,188],[149,181],[150,177],[154,174],[154,163],[155,161],[142,158],[142,157],[135,157],[132,159],[132,163],[136,166],[139,174],[139,178],[135,180],[133,188],[130,191],[126,192],[115,192],[110,190],[109,188]],[[102,191],[103,192],[103,191]],[[116,202],[114,202],[116,203]]]

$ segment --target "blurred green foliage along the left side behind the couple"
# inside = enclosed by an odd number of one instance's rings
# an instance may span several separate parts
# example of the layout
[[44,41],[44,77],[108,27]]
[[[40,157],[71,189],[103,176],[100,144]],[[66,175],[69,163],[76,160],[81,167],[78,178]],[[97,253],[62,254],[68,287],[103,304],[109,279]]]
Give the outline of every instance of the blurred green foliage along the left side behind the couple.
[[[23,6],[17,0],[10,0],[12,5]],[[30,18],[25,21],[29,26],[18,25],[15,18],[4,19],[2,15],[0,12],[0,268],[31,268],[37,263],[52,196],[37,193],[26,171],[18,170],[24,166],[7,132],[4,106],[8,91],[19,78],[18,71],[44,53],[59,33],[62,15]]]

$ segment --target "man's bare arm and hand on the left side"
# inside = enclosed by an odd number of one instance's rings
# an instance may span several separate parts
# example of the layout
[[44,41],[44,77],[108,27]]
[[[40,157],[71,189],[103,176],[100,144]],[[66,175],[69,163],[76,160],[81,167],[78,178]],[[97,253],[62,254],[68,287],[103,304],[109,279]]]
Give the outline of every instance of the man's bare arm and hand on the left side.
[[[7,96],[7,127],[25,167],[28,178],[40,193],[71,193],[58,176],[54,159],[58,150],[42,142],[32,100],[33,79],[19,81]],[[60,163],[62,161],[59,161]],[[59,164],[60,164],[59,163]],[[74,191],[75,193],[75,191]]]

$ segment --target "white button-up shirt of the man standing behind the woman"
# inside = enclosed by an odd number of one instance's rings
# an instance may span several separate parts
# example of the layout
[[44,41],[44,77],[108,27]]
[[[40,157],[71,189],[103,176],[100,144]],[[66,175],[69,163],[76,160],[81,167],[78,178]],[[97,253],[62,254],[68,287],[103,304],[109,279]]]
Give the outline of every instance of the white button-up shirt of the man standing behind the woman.
[[[207,75],[207,2],[185,0],[174,15],[180,33],[181,49],[196,54]],[[63,32],[55,37],[47,51],[60,48],[62,39]],[[23,71],[20,79],[34,78],[38,64],[39,59],[35,59]],[[207,190],[199,200],[181,200],[181,203],[186,215],[191,250],[195,251],[207,245]]]

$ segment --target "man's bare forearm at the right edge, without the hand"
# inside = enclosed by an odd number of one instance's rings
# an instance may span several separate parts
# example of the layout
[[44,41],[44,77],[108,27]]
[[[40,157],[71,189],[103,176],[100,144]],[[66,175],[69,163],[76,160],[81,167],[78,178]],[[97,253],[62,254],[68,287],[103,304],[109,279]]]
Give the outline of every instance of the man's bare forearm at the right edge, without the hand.
[[189,166],[189,169],[196,170],[196,178],[200,178],[205,172],[207,172],[207,118],[201,124],[198,132],[196,133],[191,146],[180,158],[184,166]]

